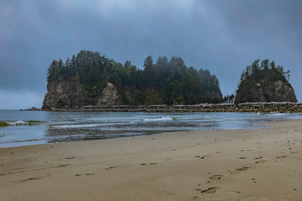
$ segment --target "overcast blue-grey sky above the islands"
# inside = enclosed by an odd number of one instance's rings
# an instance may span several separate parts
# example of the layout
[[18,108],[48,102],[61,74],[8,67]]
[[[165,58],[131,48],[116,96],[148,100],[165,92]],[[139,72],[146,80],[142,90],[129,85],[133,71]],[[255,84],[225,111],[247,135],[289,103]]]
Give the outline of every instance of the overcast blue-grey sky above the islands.
[[291,71],[302,101],[300,0],[1,0],[0,109],[41,108],[53,59],[81,49],[142,67],[151,55],[181,56],[233,93],[255,59]]

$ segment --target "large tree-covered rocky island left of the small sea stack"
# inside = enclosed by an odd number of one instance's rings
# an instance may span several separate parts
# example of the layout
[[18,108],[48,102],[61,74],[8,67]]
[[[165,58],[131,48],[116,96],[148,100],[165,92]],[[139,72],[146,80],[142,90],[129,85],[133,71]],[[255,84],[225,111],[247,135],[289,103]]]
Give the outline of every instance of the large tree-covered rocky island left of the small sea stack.
[[217,77],[208,70],[187,67],[181,57],[148,56],[143,70],[81,50],[77,56],[53,60],[47,71],[42,109],[87,105],[193,105],[220,103]]

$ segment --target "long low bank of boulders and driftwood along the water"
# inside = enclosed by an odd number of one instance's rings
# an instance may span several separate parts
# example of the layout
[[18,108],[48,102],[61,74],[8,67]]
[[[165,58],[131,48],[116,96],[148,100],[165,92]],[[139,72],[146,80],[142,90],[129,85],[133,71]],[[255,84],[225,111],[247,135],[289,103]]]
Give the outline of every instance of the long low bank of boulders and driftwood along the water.
[[[36,109],[43,110],[43,109]],[[45,111],[157,111],[157,112],[302,112],[302,102],[255,102],[242,104],[200,104],[200,105],[106,105],[75,108],[53,108]]]

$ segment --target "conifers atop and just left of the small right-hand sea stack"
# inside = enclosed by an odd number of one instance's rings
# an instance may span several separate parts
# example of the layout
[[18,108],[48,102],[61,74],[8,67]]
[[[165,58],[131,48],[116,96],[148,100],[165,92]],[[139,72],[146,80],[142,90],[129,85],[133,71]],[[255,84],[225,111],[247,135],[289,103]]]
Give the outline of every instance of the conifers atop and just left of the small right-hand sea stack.
[[237,84],[237,88],[235,93],[231,95],[226,95],[223,97],[224,103],[233,103],[235,101],[237,90],[241,83],[244,80],[248,82],[244,82],[247,88],[251,87],[252,83],[259,83],[259,80],[268,80],[268,81],[278,81],[282,80],[285,85],[291,86],[289,83],[289,78],[291,77],[291,71],[284,71],[284,67],[276,66],[275,61],[269,61],[269,59],[262,60],[260,63],[260,59],[255,60],[252,65],[248,65],[242,72],[240,79]]

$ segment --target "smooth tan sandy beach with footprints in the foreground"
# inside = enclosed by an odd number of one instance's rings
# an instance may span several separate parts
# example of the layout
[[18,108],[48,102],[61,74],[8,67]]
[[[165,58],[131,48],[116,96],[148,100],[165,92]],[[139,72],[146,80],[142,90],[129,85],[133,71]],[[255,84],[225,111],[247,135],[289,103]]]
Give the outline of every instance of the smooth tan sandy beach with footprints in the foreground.
[[302,200],[301,123],[0,148],[0,200]]

